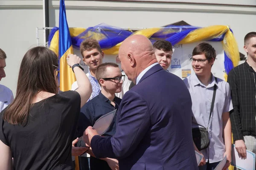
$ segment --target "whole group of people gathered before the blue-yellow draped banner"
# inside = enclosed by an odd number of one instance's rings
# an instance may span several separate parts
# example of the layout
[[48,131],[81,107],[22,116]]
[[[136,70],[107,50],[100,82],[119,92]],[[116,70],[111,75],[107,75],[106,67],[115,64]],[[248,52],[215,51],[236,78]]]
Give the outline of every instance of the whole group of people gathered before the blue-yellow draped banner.
[[[227,156],[226,170],[231,132],[242,157],[246,149],[256,153],[256,32],[244,37],[244,50],[247,60],[225,82],[211,72],[215,49],[202,42],[190,58],[194,73],[182,81],[167,70],[173,50],[166,40],[127,38],[119,49],[121,71],[103,63],[99,43],[88,38],[80,45],[88,73],[69,55],[77,81],[60,92],[58,57],[32,48],[20,64],[15,99],[0,85],[0,169],[70,170],[71,156],[79,156],[80,170],[212,170]],[[5,60],[0,49],[0,80]],[[115,109],[105,137],[98,136],[91,127]],[[207,136],[204,145],[198,134]],[[199,166],[195,151],[203,156]]]

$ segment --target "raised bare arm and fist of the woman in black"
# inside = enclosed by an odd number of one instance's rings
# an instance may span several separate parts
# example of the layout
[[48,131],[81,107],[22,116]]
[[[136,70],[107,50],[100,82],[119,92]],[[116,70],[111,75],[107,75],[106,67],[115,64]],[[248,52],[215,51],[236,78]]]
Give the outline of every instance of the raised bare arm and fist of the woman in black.
[[[70,67],[72,67],[75,64],[79,64],[80,61],[81,61],[81,59],[74,54],[70,54],[67,57],[67,64]],[[88,77],[86,76],[86,74],[84,73],[84,71],[81,68],[79,68],[78,66],[74,67],[73,71],[75,73],[76,81],[77,81],[77,85],[78,85],[76,92],[78,92],[80,94],[81,107],[83,107],[83,105],[87,102],[87,100],[90,98],[91,93],[93,92],[92,85],[91,85]]]

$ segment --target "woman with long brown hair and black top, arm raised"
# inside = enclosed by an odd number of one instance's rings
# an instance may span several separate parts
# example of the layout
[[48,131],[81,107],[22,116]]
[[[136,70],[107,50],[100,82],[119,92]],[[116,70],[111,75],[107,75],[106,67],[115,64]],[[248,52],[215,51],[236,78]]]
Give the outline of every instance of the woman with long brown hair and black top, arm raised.
[[67,57],[79,88],[58,94],[58,57],[46,47],[35,47],[22,59],[16,97],[0,113],[0,170],[71,170],[71,147],[80,108],[92,93],[90,81]]

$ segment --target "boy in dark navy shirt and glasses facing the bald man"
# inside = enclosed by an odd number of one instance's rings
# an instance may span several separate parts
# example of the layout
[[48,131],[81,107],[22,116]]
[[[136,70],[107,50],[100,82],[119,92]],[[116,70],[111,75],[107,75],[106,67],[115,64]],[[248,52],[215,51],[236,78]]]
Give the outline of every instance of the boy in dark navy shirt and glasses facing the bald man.
[[[115,63],[104,63],[98,66],[96,70],[96,79],[101,86],[101,92],[81,108],[79,117],[78,131],[82,136],[88,126],[93,126],[101,116],[118,109],[121,99],[115,96],[115,93],[122,91],[122,83],[125,76],[122,75],[118,65]],[[116,133],[116,116],[111,122],[110,127],[102,136],[113,136]],[[83,141],[79,141],[77,146],[85,146]],[[90,156],[90,170],[111,170],[118,167],[116,159],[96,159],[91,150],[88,150]]]

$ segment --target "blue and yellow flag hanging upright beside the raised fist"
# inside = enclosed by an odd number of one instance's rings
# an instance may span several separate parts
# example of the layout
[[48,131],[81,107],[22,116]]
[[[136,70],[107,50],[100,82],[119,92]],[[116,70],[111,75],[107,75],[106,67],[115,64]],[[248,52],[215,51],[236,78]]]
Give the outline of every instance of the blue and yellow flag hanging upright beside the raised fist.
[[73,47],[70,37],[70,31],[67,25],[66,8],[64,0],[60,0],[60,14],[59,14],[59,71],[60,71],[60,90],[71,90],[71,85],[76,81],[75,74],[67,65],[67,56],[73,54]]

